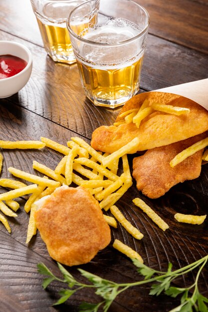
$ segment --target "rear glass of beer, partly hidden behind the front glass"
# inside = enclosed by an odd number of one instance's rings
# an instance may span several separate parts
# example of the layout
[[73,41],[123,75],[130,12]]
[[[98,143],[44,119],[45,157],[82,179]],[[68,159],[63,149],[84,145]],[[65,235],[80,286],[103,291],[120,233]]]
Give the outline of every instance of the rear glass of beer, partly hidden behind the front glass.
[[76,62],[66,27],[68,14],[83,0],[31,0],[44,48],[56,62]]

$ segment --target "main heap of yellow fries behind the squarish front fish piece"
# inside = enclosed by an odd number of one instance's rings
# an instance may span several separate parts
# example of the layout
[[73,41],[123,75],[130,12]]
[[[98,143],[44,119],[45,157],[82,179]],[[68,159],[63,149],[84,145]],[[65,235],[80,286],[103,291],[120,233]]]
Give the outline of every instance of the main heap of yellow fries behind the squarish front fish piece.
[[[135,141],[135,142],[134,142]],[[13,167],[9,167],[8,171],[15,177],[21,178],[25,181],[34,183],[26,185],[23,182],[4,178],[0,179],[0,185],[9,187],[13,190],[0,194],[0,210],[9,216],[17,216],[15,211],[19,208],[19,204],[13,199],[25,194],[31,194],[24,205],[24,210],[28,213],[30,211],[27,243],[35,233],[34,226],[34,210],[35,201],[43,196],[51,194],[56,187],[61,184],[70,185],[72,182],[76,185],[81,185],[89,190],[100,201],[100,207],[108,210],[132,185],[132,177],[129,169],[128,159],[126,153],[134,148],[138,139],[133,140],[130,144],[122,148],[119,154],[113,157],[107,153],[95,151],[89,144],[80,138],[71,138],[67,142],[67,146],[61,145],[50,139],[41,137],[40,146],[44,145],[54,151],[57,151],[64,156],[58,162],[53,170],[34,160],[32,167],[34,170],[45,174],[41,177],[36,174],[31,174]],[[10,143],[9,143],[10,144]],[[10,148],[29,148],[32,145],[25,142],[9,145]],[[111,156],[110,158],[108,158]],[[119,158],[122,156],[123,173],[117,175]],[[107,159],[107,165],[104,166],[102,162]],[[5,201],[5,203],[3,203]],[[10,210],[11,208],[12,210]],[[104,216],[109,225],[116,228],[117,222],[111,216]],[[3,218],[4,226],[7,223]],[[7,227],[8,228],[8,227]]]

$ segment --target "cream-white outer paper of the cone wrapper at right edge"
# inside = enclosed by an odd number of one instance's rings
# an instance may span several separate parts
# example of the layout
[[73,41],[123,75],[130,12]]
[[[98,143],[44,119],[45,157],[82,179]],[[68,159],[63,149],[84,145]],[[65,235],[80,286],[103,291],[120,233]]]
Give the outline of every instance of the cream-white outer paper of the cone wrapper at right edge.
[[208,78],[155,91],[182,95],[197,102],[208,110]]

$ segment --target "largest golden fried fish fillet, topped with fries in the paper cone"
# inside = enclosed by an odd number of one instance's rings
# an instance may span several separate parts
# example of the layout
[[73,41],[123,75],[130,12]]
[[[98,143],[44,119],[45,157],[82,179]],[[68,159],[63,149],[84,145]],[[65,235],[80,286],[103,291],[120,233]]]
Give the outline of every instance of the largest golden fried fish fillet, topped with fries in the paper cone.
[[[118,127],[102,126],[93,132],[91,146],[98,151],[113,153],[138,137],[140,140],[138,151],[145,151],[186,140],[208,130],[208,111],[190,99],[171,93],[138,94],[124,105],[120,114],[130,109],[139,109],[145,99],[148,99],[150,104],[160,103],[189,108],[190,113],[186,116],[176,116],[153,112],[141,122],[139,129],[133,123],[124,123]],[[118,116],[116,121],[121,119]],[[132,151],[132,154],[135,152]]]

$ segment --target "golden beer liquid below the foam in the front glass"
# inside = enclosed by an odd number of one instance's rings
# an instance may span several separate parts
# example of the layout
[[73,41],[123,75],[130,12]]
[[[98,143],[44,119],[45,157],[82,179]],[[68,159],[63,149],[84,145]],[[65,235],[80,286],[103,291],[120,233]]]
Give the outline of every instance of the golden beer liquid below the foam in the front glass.
[[[143,57],[136,62],[122,68],[93,68],[84,62],[77,60],[77,65],[81,74],[83,87],[86,94],[92,100],[103,103],[105,100],[117,100],[117,105],[129,100],[139,90],[139,78],[142,68]],[[96,104],[95,102],[95,104]]]

